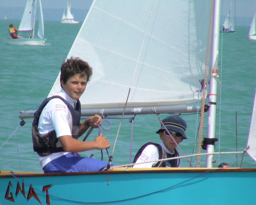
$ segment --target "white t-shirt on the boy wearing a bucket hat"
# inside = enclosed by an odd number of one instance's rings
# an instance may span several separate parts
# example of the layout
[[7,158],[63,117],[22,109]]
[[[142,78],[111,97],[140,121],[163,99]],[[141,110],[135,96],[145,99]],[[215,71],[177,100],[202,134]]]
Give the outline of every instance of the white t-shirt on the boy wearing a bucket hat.
[[[161,142],[159,143],[164,151],[168,154],[174,154],[173,152],[170,152],[166,146],[164,146],[164,143]],[[154,166],[157,162],[150,162],[150,161],[156,161],[159,159],[159,154],[158,154],[158,148],[155,145],[148,145],[144,148],[140,156],[138,157],[137,161],[135,163],[141,163],[141,162],[148,162],[144,164],[134,164],[133,167],[135,168],[150,168]]]

